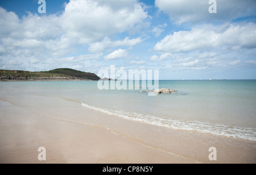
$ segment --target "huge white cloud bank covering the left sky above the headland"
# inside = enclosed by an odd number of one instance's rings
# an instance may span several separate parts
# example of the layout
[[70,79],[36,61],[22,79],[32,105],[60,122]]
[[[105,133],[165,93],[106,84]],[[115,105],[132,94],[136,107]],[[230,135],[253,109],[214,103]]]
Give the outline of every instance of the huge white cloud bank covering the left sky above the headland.
[[[22,19],[0,7],[0,65],[10,65],[5,60],[12,59],[22,63],[24,69],[36,63],[43,68],[56,60],[61,64],[68,59],[69,62],[77,62],[90,57],[99,58],[94,54],[67,56],[76,54],[77,46],[81,49],[89,45],[90,52],[101,55],[102,51],[109,49],[109,44],[134,46],[144,39],[125,37],[110,41],[109,37],[143,28],[149,24],[150,18],[143,4],[137,0],[71,0],[64,3],[64,7],[58,15],[39,16],[27,12]],[[114,59],[125,53],[119,50],[105,58]],[[13,66],[13,69],[18,68]]]

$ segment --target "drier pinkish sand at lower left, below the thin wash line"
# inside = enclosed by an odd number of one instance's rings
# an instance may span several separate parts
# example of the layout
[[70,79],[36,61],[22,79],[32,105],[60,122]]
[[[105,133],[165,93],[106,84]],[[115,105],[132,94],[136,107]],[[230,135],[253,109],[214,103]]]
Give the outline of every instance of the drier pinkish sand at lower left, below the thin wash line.
[[[76,113],[77,108],[84,110],[82,106],[74,104],[48,111],[40,108],[40,103],[27,108],[23,105],[28,104],[0,101],[0,163],[197,163],[143,146],[110,130],[65,118]],[[55,110],[55,114],[51,113]],[[62,119],[57,118],[60,113]],[[38,160],[39,147],[46,148],[46,161]]]

